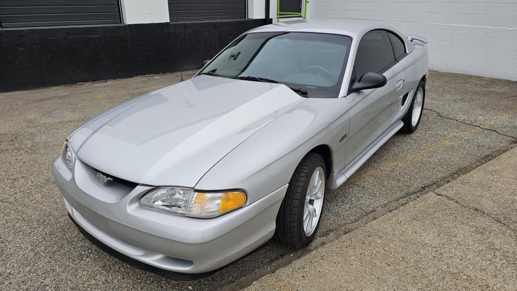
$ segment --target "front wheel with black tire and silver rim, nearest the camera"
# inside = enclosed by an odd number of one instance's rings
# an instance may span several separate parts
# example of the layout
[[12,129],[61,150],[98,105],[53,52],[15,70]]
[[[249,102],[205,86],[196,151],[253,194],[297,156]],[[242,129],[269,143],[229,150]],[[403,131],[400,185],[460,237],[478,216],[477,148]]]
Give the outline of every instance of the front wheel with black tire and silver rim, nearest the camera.
[[325,169],[325,161],[317,153],[302,159],[278,211],[273,240],[299,249],[314,239],[323,211]]

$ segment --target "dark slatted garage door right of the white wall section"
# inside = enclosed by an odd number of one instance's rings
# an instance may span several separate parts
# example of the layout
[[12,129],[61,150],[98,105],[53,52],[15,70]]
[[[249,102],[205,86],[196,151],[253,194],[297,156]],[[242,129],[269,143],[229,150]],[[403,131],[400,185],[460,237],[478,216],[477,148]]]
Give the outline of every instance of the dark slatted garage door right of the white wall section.
[[169,17],[171,22],[244,19],[246,0],[169,0]]

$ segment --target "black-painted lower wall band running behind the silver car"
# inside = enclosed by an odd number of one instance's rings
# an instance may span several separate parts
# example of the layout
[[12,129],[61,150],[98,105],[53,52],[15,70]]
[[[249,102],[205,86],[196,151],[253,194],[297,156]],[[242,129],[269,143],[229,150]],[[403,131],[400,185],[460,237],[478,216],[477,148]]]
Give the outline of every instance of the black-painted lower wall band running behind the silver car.
[[0,30],[0,92],[196,69],[264,19]]

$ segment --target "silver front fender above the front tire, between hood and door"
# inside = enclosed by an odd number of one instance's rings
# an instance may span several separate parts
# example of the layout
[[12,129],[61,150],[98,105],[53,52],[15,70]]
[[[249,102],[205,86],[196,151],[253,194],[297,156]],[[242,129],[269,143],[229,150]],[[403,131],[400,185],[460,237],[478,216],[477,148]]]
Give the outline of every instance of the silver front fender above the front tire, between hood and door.
[[244,189],[247,204],[253,203],[288,183],[303,156],[321,144],[330,148],[333,164],[344,165],[346,140],[340,139],[348,123],[345,98],[309,98],[239,144],[195,188]]

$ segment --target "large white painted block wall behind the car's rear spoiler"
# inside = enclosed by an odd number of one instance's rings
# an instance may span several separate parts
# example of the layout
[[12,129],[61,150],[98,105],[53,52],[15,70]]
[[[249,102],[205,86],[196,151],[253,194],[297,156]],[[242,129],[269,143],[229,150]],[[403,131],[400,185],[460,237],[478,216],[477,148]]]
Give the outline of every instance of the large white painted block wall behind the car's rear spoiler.
[[311,0],[307,15],[388,22],[428,38],[432,69],[517,81],[517,0]]

